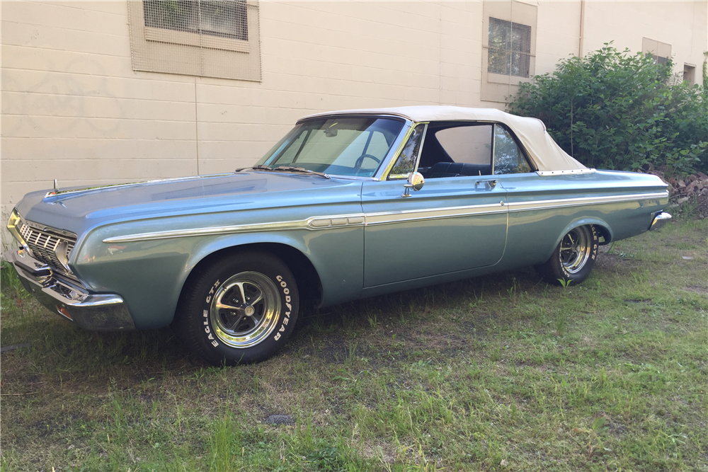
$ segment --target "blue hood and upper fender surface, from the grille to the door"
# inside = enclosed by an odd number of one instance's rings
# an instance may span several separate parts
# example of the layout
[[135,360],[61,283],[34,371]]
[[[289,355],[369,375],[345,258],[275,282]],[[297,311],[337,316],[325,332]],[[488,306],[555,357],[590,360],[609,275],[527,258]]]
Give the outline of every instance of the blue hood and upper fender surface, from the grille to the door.
[[360,201],[360,190],[358,180],[252,171],[32,192],[17,209],[29,221],[80,235],[109,221]]

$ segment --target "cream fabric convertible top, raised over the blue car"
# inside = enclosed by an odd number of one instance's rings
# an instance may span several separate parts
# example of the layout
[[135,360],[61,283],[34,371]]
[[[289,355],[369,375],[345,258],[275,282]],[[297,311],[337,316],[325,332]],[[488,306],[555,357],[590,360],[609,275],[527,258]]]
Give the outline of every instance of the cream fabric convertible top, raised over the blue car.
[[443,105],[420,105],[397,108],[371,108],[364,110],[341,110],[317,113],[301,118],[329,115],[396,115],[413,122],[426,121],[491,121],[507,125],[521,140],[529,158],[539,171],[573,171],[586,166],[573,159],[556,144],[546,126],[537,118],[510,115],[496,108],[464,108]]

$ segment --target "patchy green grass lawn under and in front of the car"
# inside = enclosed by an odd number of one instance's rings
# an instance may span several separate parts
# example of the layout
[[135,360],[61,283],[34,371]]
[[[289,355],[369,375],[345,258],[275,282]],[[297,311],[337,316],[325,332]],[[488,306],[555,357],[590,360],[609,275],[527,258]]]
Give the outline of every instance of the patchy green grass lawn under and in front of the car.
[[[708,471],[708,220],[533,270],[304,309],[273,359],[91,333],[1,270],[2,471]],[[270,424],[270,415],[285,423]]]

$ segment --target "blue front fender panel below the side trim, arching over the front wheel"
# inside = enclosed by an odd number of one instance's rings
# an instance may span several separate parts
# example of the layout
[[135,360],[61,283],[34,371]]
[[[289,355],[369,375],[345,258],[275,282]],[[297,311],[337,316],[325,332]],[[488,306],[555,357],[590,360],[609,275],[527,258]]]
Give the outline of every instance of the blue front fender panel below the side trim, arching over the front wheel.
[[102,243],[96,231],[74,263],[74,271],[92,291],[118,294],[138,329],[172,322],[183,285],[200,261],[225,248],[258,243],[281,244],[302,253],[322,282],[322,304],[360,297],[363,284],[363,227],[320,231],[307,229],[265,233],[191,236]]

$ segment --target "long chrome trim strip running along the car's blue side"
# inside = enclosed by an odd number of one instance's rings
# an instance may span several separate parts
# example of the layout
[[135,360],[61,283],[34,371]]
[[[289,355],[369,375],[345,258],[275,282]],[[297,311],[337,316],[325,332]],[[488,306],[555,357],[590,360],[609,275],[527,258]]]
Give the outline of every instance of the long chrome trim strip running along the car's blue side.
[[[135,243],[137,241],[155,241],[159,239],[188,238],[190,236],[220,236],[224,234],[253,233],[257,231],[291,231],[307,229],[338,229],[355,226],[375,226],[379,224],[402,223],[406,221],[422,221],[446,218],[472,217],[480,214],[496,214],[506,212],[525,212],[536,209],[552,209],[577,207],[582,205],[601,205],[604,203],[635,202],[641,200],[668,199],[668,191],[658,193],[641,193],[624,195],[622,197],[581,197],[561,200],[539,200],[537,202],[468,205],[464,207],[445,207],[431,209],[411,209],[398,212],[337,214],[324,217],[311,217],[305,220],[280,221],[277,223],[235,224],[229,226],[214,226],[212,228],[177,229],[173,231],[153,231],[149,233],[127,234],[105,238],[104,243]],[[507,209],[508,208],[508,209]]]

